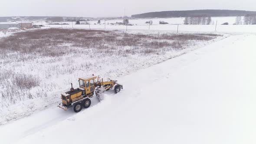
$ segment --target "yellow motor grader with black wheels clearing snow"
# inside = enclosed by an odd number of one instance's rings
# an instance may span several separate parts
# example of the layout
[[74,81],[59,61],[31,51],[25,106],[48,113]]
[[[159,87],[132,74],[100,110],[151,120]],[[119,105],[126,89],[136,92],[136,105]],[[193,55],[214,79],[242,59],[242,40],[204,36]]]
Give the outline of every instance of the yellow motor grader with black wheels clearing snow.
[[74,89],[71,83],[70,91],[61,94],[62,104],[59,103],[59,108],[67,111],[67,108],[73,107],[75,112],[79,112],[82,107],[89,108],[91,105],[90,98],[94,94],[101,101],[105,91],[112,89],[118,93],[123,89],[123,85],[118,84],[116,80],[108,79],[104,82],[99,75],[98,77],[92,75],[84,79],[79,78],[78,82],[79,88]]

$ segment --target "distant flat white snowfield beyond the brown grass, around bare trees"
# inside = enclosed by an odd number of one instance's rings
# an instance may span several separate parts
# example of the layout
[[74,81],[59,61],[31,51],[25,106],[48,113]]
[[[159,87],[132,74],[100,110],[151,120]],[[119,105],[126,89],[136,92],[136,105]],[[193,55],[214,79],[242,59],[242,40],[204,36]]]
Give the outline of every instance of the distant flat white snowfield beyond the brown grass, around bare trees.
[[[142,31],[148,31],[150,29],[151,31],[171,31],[176,32],[177,31],[177,24],[179,24],[179,32],[215,32],[215,24],[217,22],[217,32],[222,33],[256,33],[256,25],[233,25],[235,23],[236,17],[234,16],[227,16],[227,17],[212,17],[212,23],[211,25],[184,25],[184,18],[155,18],[155,19],[137,19],[137,20],[129,20],[130,24],[133,24],[133,26],[127,26],[128,30],[142,30]],[[148,26],[146,24],[146,21],[152,20],[153,25]],[[159,21],[165,21],[169,24],[160,25]],[[101,20],[101,25],[96,24],[97,21],[89,21],[89,25],[75,25],[75,22],[64,22],[69,23],[69,25],[48,25],[45,21],[38,21],[35,22],[35,24],[43,24],[46,27],[62,27],[62,28],[79,28],[79,29],[120,29],[120,30],[126,30],[126,26],[124,25],[111,25],[111,23],[121,23],[122,20],[107,20],[106,25],[103,24],[105,21]],[[228,22],[230,25],[221,25],[222,23]],[[60,22],[58,22],[60,23]]]

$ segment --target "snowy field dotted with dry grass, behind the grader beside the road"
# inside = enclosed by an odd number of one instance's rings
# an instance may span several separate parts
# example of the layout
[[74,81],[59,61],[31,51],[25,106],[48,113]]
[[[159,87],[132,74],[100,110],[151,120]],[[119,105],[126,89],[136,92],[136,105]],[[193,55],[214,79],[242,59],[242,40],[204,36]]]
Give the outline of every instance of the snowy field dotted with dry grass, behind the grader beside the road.
[[[116,79],[228,35],[42,29],[0,43],[0,124],[59,102],[77,79]],[[15,59],[13,59],[15,58]]]

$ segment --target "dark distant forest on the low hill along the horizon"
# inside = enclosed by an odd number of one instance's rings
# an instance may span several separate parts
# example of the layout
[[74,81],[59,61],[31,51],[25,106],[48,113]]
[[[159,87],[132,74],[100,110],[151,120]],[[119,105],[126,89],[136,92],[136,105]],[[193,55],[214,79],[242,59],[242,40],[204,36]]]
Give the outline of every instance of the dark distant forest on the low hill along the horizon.
[[254,15],[256,11],[245,10],[181,10],[181,11],[162,11],[131,15],[135,18],[154,18],[154,17],[193,17],[193,16],[245,16]]

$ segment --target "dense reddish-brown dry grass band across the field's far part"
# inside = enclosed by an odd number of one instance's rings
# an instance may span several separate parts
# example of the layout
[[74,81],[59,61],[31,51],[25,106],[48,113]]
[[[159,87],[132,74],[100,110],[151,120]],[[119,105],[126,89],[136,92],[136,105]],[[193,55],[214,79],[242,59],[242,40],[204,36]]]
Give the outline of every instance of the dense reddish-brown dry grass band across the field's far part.
[[[118,31],[86,29],[40,29],[15,33],[0,39],[2,53],[21,52],[37,56],[58,57],[69,53],[79,53],[72,47],[101,49],[101,52],[116,51],[125,46],[142,47],[136,53],[153,53],[160,48],[184,49],[187,41],[211,40],[215,34],[129,34]],[[66,43],[71,44],[65,46]],[[126,51],[129,54],[135,53]],[[3,56],[1,56],[3,57]]]

